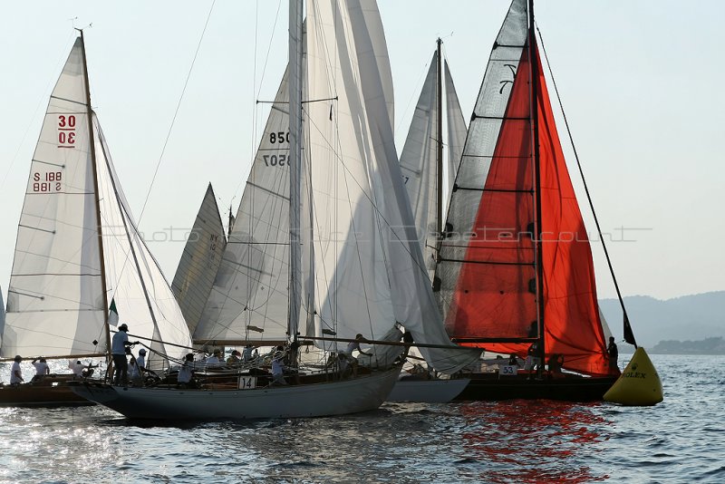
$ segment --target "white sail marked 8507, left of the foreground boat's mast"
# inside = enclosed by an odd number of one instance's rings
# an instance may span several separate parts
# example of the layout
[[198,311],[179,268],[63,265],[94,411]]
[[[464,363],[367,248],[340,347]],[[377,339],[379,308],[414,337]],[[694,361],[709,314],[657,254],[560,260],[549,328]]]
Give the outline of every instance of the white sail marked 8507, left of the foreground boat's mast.
[[280,83],[195,342],[285,341],[289,298],[289,106]]

